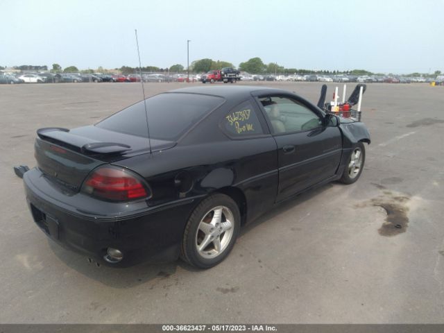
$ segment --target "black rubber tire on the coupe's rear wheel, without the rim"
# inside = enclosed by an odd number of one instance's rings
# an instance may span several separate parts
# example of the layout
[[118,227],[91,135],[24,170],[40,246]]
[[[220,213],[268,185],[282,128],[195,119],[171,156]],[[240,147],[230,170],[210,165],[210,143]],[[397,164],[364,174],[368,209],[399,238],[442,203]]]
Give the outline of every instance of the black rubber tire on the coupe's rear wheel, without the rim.
[[[205,219],[206,216],[211,214],[213,208],[223,206],[232,213],[232,234],[231,238],[228,241],[228,244],[221,250],[216,257],[203,257],[198,251],[198,232],[200,231],[199,225],[200,222]],[[223,221],[223,214],[221,214],[222,218],[220,221]],[[210,217],[211,218],[211,217]],[[226,216],[225,216],[226,218]],[[230,198],[230,196],[226,196],[225,194],[213,194],[208,198],[205,198],[194,210],[191,216],[188,219],[187,225],[185,227],[185,232],[183,234],[182,246],[180,251],[180,257],[185,262],[188,262],[192,266],[197,268],[211,268],[216,266],[220,262],[228,256],[230,251],[232,250],[234,243],[236,242],[237,235],[239,234],[239,229],[241,226],[241,214],[239,212],[239,207],[237,203]],[[217,228],[216,228],[217,229]],[[231,229],[231,228],[230,228]],[[225,237],[225,233],[221,234],[221,242],[223,241],[223,237]],[[208,244],[208,246],[212,246],[212,242]],[[207,247],[208,247],[207,246]],[[220,244],[219,244],[220,246]],[[205,249],[207,248],[205,247]],[[215,247],[214,247],[215,248]],[[208,250],[203,250],[203,252],[207,252]]]

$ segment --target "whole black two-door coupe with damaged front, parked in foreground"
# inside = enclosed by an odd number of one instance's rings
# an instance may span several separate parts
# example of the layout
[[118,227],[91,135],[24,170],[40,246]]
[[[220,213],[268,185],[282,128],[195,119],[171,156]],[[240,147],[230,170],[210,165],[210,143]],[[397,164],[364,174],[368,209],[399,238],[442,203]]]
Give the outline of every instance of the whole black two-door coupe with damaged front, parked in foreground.
[[157,94],[96,123],[42,128],[24,173],[35,223],[110,266],[148,258],[209,268],[244,223],[364,167],[364,123],[264,87]]

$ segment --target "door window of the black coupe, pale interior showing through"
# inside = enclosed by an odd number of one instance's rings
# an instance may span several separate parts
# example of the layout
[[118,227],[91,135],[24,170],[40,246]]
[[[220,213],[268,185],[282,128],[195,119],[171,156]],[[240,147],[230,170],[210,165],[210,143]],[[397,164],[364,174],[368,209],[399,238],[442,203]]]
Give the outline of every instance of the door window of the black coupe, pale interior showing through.
[[293,133],[322,126],[322,119],[305,105],[282,96],[259,99],[264,106],[273,133]]

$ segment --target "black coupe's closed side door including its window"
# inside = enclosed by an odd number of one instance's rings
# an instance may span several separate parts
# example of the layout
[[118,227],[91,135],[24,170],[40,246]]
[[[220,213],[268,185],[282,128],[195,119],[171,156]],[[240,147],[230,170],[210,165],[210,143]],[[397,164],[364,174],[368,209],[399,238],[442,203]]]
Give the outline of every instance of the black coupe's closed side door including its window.
[[325,125],[322,112],[296,96],[257,99],[278,146],[276,201],[334,176],[342,153],[339,128]]

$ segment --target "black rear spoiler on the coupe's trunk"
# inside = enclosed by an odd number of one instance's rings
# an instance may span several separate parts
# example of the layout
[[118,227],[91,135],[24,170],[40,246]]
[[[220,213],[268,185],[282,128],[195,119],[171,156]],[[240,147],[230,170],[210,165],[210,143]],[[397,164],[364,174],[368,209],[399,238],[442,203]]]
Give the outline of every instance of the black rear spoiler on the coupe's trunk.
[[69,133],[67,128],[40,128],[37,130],[37,135],[40,137],[40,139],[52,142],[53,144],[68,146],[69,148],[79,151],[85,155],[88,153],[117,154],[131,150],[131,146],[128,146],[128,144],[119,144],[117,142],[99,142],[87,137],[81,137],[80,135]]

